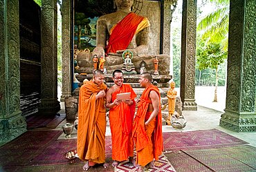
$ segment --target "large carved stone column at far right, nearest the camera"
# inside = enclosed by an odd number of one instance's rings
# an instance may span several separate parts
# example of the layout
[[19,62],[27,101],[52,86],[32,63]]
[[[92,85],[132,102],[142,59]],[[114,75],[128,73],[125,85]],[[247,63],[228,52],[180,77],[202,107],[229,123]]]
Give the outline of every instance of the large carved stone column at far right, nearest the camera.
[[256,131],[255,0],[230,0],[228,79],[225,113],[219,125]]

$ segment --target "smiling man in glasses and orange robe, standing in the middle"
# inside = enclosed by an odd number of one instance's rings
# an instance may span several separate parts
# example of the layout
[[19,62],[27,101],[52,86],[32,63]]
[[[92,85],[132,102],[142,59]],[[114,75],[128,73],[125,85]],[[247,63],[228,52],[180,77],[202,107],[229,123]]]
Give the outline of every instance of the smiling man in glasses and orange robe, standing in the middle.
[[[132,122],[135,113],[136,94],[129,84],[123,84],[123,73],[121,70],[113,71],[113,82],[115,83],[107,91],[107,108],[109,110],[109,122],[112,137],[112,159],[113,166],[119,162],[128,160],[135,164],[134,143],[131,139]],[[131,93],[130,98],[124,102],[117,99],[118,93]]]

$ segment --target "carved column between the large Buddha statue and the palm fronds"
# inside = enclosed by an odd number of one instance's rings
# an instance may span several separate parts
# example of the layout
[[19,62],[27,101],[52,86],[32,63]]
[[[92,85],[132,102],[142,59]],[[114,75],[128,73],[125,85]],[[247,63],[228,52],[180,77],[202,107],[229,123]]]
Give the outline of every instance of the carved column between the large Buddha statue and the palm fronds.
[[183,0],[181,33],[181,100],[184,111],[197,111],[194,99],[196,1]]

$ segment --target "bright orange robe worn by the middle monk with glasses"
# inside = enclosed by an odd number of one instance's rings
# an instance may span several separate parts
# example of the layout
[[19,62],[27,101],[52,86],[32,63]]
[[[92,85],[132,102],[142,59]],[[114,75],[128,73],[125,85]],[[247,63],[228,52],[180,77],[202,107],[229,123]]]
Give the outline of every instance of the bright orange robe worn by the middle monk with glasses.
[[122,86],[112,93],[111,102],[116,99],[118,93],[131,93],[130,99],[134,104],[129,106],[122,102],[109,110],[109,122],[112,137],[112,159],[116,161],[127,160],[134,156],[134,143],[131,139],[132,122],[134,120],[136,94],[129,84]]

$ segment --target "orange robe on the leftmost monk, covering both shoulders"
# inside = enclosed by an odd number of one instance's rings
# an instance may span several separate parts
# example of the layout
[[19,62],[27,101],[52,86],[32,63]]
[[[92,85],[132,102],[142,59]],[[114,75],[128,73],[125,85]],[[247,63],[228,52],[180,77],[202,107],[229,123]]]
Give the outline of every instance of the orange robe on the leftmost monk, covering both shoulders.
[[105,162],[105,98],[95,98],[100,90],[107,92],[107,86],[91,80],[81,86],[79,94],[77,154],[81,160],[88,160],[89,165]]

